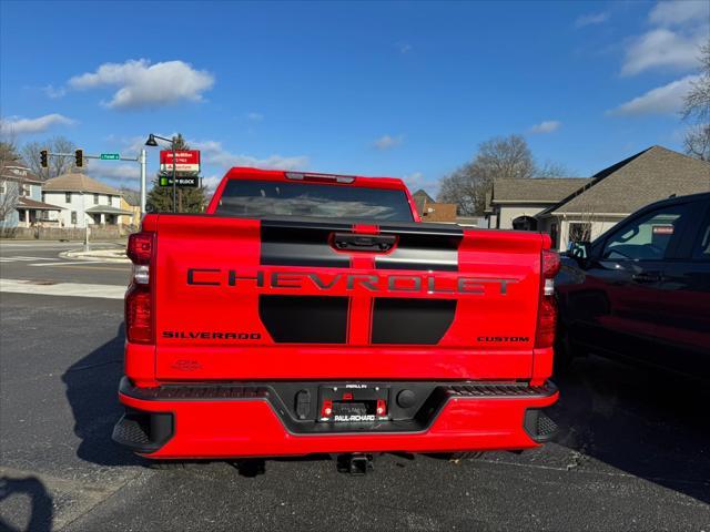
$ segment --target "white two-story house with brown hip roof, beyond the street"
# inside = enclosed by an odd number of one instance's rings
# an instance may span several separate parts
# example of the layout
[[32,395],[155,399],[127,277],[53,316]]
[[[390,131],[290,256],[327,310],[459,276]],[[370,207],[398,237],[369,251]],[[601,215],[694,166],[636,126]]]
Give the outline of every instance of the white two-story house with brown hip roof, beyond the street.
[[119,216],[132,214],[121,208],[121,191],[81,173],[45,181],[42,197],[43,202],[62,207],[60,227],[118,225]]

